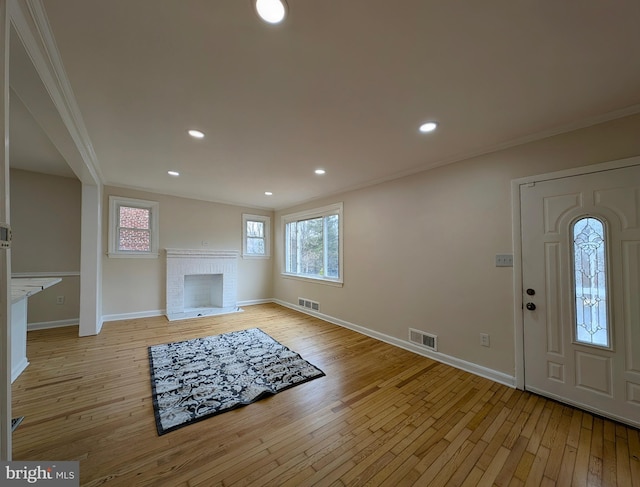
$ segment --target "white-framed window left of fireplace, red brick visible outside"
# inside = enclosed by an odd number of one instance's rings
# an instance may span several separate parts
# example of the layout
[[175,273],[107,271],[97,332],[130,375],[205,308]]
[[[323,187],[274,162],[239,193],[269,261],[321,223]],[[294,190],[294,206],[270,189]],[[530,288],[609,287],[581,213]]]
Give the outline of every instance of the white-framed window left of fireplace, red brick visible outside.
[[158,256],[155,201],[109,196],[109,257]]

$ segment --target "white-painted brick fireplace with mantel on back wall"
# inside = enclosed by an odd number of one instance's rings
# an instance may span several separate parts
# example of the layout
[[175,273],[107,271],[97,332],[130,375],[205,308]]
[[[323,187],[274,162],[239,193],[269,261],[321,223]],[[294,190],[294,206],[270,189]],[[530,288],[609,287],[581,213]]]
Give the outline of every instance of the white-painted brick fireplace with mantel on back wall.
[[166,249],[169,321],[240,311],[238,252]]

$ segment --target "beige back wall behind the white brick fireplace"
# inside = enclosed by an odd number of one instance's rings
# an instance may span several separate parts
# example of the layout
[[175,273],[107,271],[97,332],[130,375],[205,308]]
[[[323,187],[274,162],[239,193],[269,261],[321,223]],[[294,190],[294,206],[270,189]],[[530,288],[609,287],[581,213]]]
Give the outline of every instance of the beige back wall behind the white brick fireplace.
[[[157,259],[111,258],[102,263],[102,310],[107,318],[128,313],[163,312],[165,248],[237,250],[242,253],[242,214],[273,216],[255,208],[210,203],[106,186],[104,190],[103,246],[108,239],[109,196],[160,203],[160,256]],[[202,242],[209,243],[207,247]],[[239,259],[238,301],[270,299],[273,260]]]

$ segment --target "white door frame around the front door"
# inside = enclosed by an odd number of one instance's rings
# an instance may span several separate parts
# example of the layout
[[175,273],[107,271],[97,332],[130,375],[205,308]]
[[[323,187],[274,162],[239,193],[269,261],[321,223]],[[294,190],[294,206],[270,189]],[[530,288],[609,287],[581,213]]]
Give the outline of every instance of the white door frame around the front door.
[[603,162],[584,167],[567,169],[536,176],[527,176],[511,181],[511,218],[512,218],[512,238],[513,238],[513,322],[515,326],[515,359],[516,376],[515,386],[524,390],[524,312],[522,309],[522,235],[520,233],[521,207],[520,207],[520,187],[528,184],[549,181],[552,179],[562,179],[582,174],[591,174],[611,169],[637,166],[640,164],[640,156],[619,159],[616,161]]

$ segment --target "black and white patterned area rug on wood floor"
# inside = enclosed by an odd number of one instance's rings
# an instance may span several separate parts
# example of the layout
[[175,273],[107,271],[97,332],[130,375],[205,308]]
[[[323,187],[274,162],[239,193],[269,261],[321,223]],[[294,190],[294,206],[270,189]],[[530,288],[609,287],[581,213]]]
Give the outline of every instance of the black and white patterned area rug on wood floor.
[[149,347],[158,435],[324,376],[258,328]]

